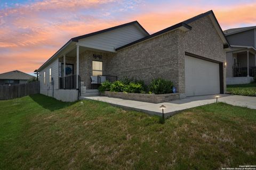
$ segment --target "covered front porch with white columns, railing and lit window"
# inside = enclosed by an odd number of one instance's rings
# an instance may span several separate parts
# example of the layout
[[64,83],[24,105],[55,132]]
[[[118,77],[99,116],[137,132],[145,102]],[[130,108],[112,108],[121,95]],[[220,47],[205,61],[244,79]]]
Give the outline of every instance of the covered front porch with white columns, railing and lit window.
[[[113,52],[76,46],[58,58],[59,89],[98,89],[105,81],[116,81],[116,75],[108,75],[108,60]],[[65,68],[65,69],[64,69]]]

